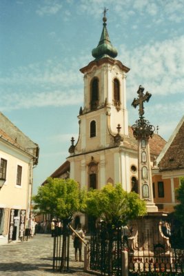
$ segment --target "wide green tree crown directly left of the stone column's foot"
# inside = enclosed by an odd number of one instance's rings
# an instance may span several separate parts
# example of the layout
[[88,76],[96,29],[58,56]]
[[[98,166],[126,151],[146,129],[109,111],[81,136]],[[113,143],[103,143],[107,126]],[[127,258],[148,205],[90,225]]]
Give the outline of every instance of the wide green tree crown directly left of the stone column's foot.
[[136,193],[127,193],[121,184],[107,184],[102,190],[90,190],[85,201],[85,213],[100,217],[108,224],[127,224],[127,221],[146,214],[145,201]]

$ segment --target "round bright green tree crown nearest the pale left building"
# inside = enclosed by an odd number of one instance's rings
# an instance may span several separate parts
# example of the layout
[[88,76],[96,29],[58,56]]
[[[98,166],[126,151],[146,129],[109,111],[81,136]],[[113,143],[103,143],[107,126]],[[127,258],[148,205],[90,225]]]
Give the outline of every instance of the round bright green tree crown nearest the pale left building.
[[34,209],[39,208],[41,213],[48,213],[60,219],[71,219],[81,208],[83,195],[76,181],[49,177],[47,184],[39,187],[32,200]]

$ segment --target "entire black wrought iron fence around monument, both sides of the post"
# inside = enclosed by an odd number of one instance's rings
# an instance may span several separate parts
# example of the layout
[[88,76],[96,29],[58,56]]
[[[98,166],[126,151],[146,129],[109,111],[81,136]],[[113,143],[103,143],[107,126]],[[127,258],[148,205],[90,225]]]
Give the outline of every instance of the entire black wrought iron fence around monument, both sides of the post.
[[90,270],[101,275],[121,276],[122,253],[127,250],[130,276],[184,275],[184,244],[183,249],[171,248],[170,240],[159,235],[159,228],[153,229],[152,233],[147,231],[147,235],[138,235],[134,250],[131,243],[126,228],[99,224],[89,240]]

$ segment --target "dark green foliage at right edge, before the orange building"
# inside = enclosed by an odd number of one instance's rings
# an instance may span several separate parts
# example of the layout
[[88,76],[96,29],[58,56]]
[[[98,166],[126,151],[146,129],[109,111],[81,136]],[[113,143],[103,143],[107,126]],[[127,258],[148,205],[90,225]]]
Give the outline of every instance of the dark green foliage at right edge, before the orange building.
[[181,186],[176,189],[176,198],[180,201],[180,204],[174,207],[174,216],[184,226],[184,177],[181,177]]

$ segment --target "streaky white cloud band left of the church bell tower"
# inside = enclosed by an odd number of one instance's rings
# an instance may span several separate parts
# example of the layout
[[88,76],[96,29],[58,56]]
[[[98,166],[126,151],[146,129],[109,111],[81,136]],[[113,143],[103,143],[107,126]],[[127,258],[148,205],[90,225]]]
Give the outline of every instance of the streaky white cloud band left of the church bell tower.
[[10,70],[0,77],[0,109],[81,105],[83,75],[79,64],[85,64],[85,59],[85,55],[62,61],[50,59]]

